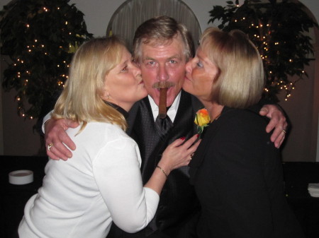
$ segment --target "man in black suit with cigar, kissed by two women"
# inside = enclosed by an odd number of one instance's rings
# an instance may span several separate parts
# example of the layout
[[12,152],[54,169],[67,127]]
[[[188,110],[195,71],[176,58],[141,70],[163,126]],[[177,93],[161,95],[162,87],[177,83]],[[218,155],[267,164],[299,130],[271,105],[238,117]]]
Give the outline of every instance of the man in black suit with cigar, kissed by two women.
[[[152,18],[140,25],[133,39],[133,55],[144,78],[148,96],[130,111],[128,133],[138,143],[142,159],[142,179],[147,182],[164,148],[176,138],[189,138],[196,133],[194,117],[202,107],[189,93],[181,90],[184,83],[186,62],[192,56],[192,42],[184,25],[173,18]],[[167,117],[159,119],[158,82],[169,82],[167,89]],[[166,124],[167,133],[160,124]],[[160,135],[159,135],[160,134]],[[199,211],[193,186],[189,184],[188,167],[169,174],[162,190],[159,207],[150,225],[140,234],[123,237],[186,237],[191,230],[191,220]],[[182,228],[183,227],[183,228]],[[163,231],[161,234],[159,231]],[[155,233],[154,233],[155,232]],[[156,234],[156,235],[155,235]],[[140,236],[141,235],[141,236]],[[111,237],[111,235],[109,236]]]

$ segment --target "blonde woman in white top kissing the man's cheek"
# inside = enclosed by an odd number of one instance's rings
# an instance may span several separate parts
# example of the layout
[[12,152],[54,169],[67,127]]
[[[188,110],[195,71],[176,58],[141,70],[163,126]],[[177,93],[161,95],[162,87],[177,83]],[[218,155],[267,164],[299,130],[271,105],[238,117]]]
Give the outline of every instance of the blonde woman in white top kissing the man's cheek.
[[52,118],[79,122],[67,129],[77,149],[72,159],[47,163],[43,186],[26,204],[19,237],[104,238],[112,221],[138,232],[152,220],[167,176],[188,165],[199,141],[174,141],[142,186],[140,153],[125,133],[125,117],[146,96],[140,69],[121,40],[96,38],[79,47],[52,112]]

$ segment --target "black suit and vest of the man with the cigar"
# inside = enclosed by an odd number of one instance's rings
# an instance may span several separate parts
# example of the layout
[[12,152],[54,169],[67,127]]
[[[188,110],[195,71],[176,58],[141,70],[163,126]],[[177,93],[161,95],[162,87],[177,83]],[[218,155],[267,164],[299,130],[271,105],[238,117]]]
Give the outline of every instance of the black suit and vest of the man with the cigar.
[[[138,143],[142,157],[142,180],[145,184],[156,168],[164,149],[177,138],[190,138],[197,133],[194,124],[196,111],[203,107],[195,97],[181,91],[181,100],[174,126],[166,138],[161,139],[155,127],[152,109],[147,97],[137,102],[128,117],[128,134]],[[135,234],[128,234],[113,225],[108,238],[113,237],[186,237],[187,230],[196,220],[198,199],[194,187],[189,184],[189,167],[175,169],[169,174],[159,198],[155,218],[147,227]],[[185,232],[185,234],[178,234]]]

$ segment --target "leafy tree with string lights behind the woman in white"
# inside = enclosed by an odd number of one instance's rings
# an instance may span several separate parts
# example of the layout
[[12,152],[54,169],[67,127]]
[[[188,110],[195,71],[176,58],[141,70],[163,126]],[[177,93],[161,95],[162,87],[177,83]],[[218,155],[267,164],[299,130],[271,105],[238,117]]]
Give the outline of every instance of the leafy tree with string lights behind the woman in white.
[[11,1],[0,12],[1,54],[9,55],[2,83],[17,91],[18,114],[37,118],[61,91],[75,49],[91,38],[84,14],[69,0]]

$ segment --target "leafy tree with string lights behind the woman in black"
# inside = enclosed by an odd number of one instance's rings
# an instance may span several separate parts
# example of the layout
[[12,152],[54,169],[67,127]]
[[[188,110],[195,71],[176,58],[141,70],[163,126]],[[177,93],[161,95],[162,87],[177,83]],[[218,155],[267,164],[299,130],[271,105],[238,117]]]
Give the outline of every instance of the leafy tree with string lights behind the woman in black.
[[[295,83],[307,76],[304,67],[313,56],[311,38],[305,34],[318,24],[310,18],[300,3],[283,0],[226,1],[227,6],[213,6],[210,20],[221,20],[218,28],[225,31],[240,29],[247,33],[262,55],[267,79],[265,94],[278,101],[276,95],[285,90],[286,100]],[[292,80],[288,76],[298,76]]]

